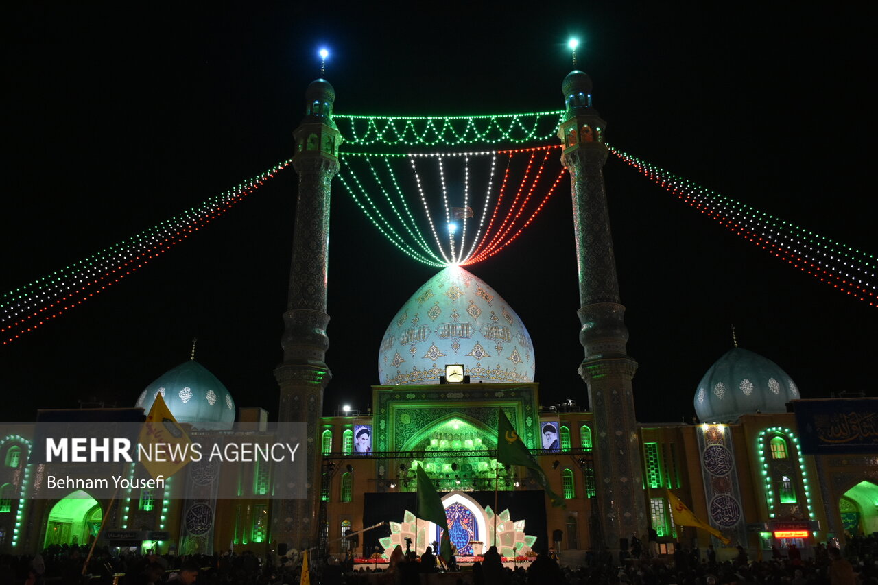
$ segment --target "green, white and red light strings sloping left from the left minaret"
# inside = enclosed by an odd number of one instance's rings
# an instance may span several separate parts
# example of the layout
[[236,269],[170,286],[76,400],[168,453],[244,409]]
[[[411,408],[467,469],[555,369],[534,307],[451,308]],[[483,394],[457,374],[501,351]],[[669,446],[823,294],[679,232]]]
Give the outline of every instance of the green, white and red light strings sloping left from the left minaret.
[[149,264],[154,258],[226,213],[234,204],[290,164],[291,160],[280,162],[234,189],[207,199],[124,242],[5,293],[0,304],[2,344],[11,343],[65,311],[82,305],[84,301]]

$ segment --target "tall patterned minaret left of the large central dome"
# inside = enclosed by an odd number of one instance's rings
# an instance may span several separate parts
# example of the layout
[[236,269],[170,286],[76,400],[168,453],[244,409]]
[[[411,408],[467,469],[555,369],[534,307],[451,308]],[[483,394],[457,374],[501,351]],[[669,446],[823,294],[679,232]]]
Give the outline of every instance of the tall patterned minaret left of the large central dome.
[[[280,386],[279,423],[306,423],[307,492],[299,500],[277,500],[272,514],[272,541],[302,550],[315,543],[320,504],[320,444],[323,391],[332,377],[326,365],[329,338],[327,314],[327,255],[329,251],[329,191],[338,172],[342,136],[332,119],[335,90],[318,79],[305,92],[306,115],[293,131],[296,153],[292,166],[299,173],[299,196],[292,235],[290,293],[284,313],[284,362],[275,378]],[[301,451],[299,451],[301,452]],[[289,482],[303,478],[277,480]]]

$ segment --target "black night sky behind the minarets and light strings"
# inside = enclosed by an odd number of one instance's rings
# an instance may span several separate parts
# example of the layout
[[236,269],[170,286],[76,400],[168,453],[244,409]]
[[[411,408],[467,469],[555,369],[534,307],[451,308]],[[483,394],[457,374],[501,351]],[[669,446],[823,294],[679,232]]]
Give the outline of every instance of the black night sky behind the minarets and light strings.
[[[576,34],[615,147],[878,251],[874,20],[860,9],[184,4],[10,15],[3,291],[288,158],[321,45],[333,52],[336,112],[536,112],[561,109],[565,43]],[[878,310],[788,268],[612,157],[606,182],[641,421],[688,420],[702,374],[731,347],[732,323],[741,345],[781,365],[804,397],[875,395]],[[31,421],[36,408],[92,396],[133,405],[188,358],[192,336],[198,361],[239,406],[276,413],[296,184],[285,170],[112,290],[0,349],[2,420]],[[570,209],[565,179],[515,244],[471,267],[527,325],[544,404],[586,401]],[[365,408],[387,323],[435,269],[385,242],[337,183],[329,266],[327,412],[344,401]]]

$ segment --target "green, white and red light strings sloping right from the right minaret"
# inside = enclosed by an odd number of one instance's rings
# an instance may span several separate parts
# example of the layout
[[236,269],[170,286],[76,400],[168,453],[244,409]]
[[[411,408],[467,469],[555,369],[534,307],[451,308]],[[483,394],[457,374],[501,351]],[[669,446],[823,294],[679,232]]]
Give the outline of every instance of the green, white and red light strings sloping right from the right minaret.
[[709,191],[615,148],[609,150],[731,233],[839,292],[878,307],[875,256]]

